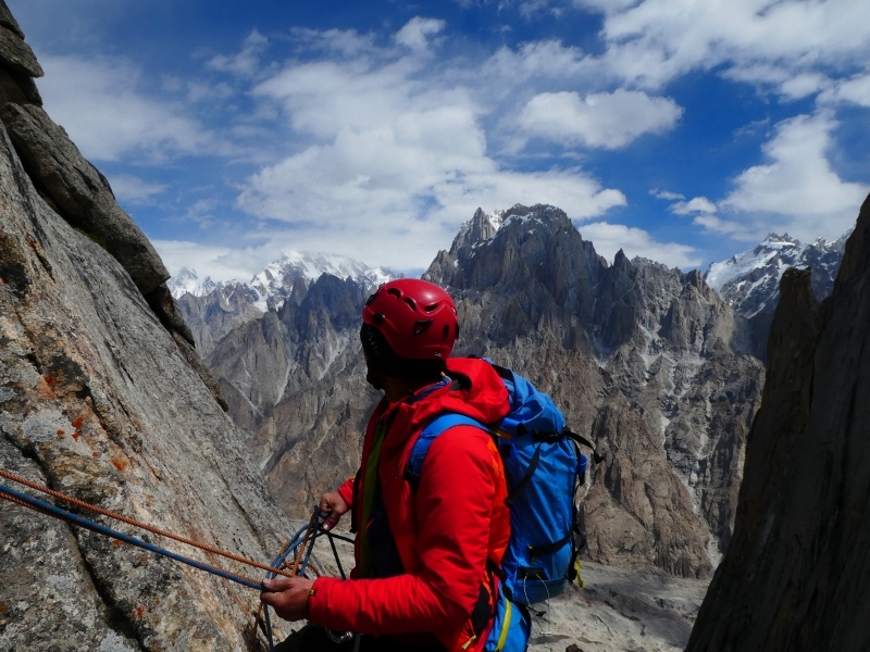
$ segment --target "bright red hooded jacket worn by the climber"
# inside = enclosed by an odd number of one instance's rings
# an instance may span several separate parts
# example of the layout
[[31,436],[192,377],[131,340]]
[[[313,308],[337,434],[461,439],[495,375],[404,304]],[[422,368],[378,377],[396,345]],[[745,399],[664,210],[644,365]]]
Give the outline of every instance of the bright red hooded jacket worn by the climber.
[[[508,412],[508,393],[485,361],[450,359],[447,364],[451,376],[464,377],[461,388],[445,386],[423,396],[424,389],[393,404],[383,400],[363,442],[364,469],[377,421],[391,419],[381,449],[378,479],[405,573],[383,579],[355,579],[352,574],[348,580],[319,578],[308,601],[312,623],[372,635],[432,632],[451,652],[462,650],[472,638],[470,614],[481,587],[492,586],[486,560],[499,563],[510,536],[498,450],[482,429],[455,426],[433,441],[415,491],[402,473],[420,431],[432,418],[449,412],[494,423]],[[363,482],[364,478],[358,487],[360,497]],[[352,482],[339,491],[352,506]],[[359,543],[356,557],[359,564]],[[485,638],[486,631],[467,650],[482,649]]]

